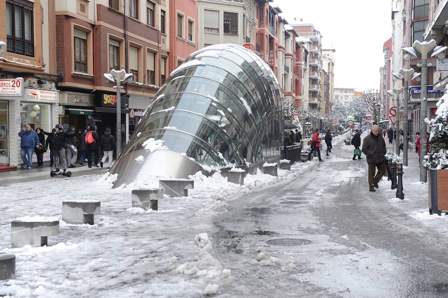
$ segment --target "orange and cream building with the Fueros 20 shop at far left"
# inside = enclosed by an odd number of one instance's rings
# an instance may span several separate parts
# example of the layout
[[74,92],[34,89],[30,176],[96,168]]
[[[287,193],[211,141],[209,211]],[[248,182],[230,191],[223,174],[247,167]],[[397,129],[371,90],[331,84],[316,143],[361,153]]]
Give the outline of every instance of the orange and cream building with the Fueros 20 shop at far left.
[[26,123],[51,131],[58,121],[55,2],[0,1],[0,171],[20,166]]

